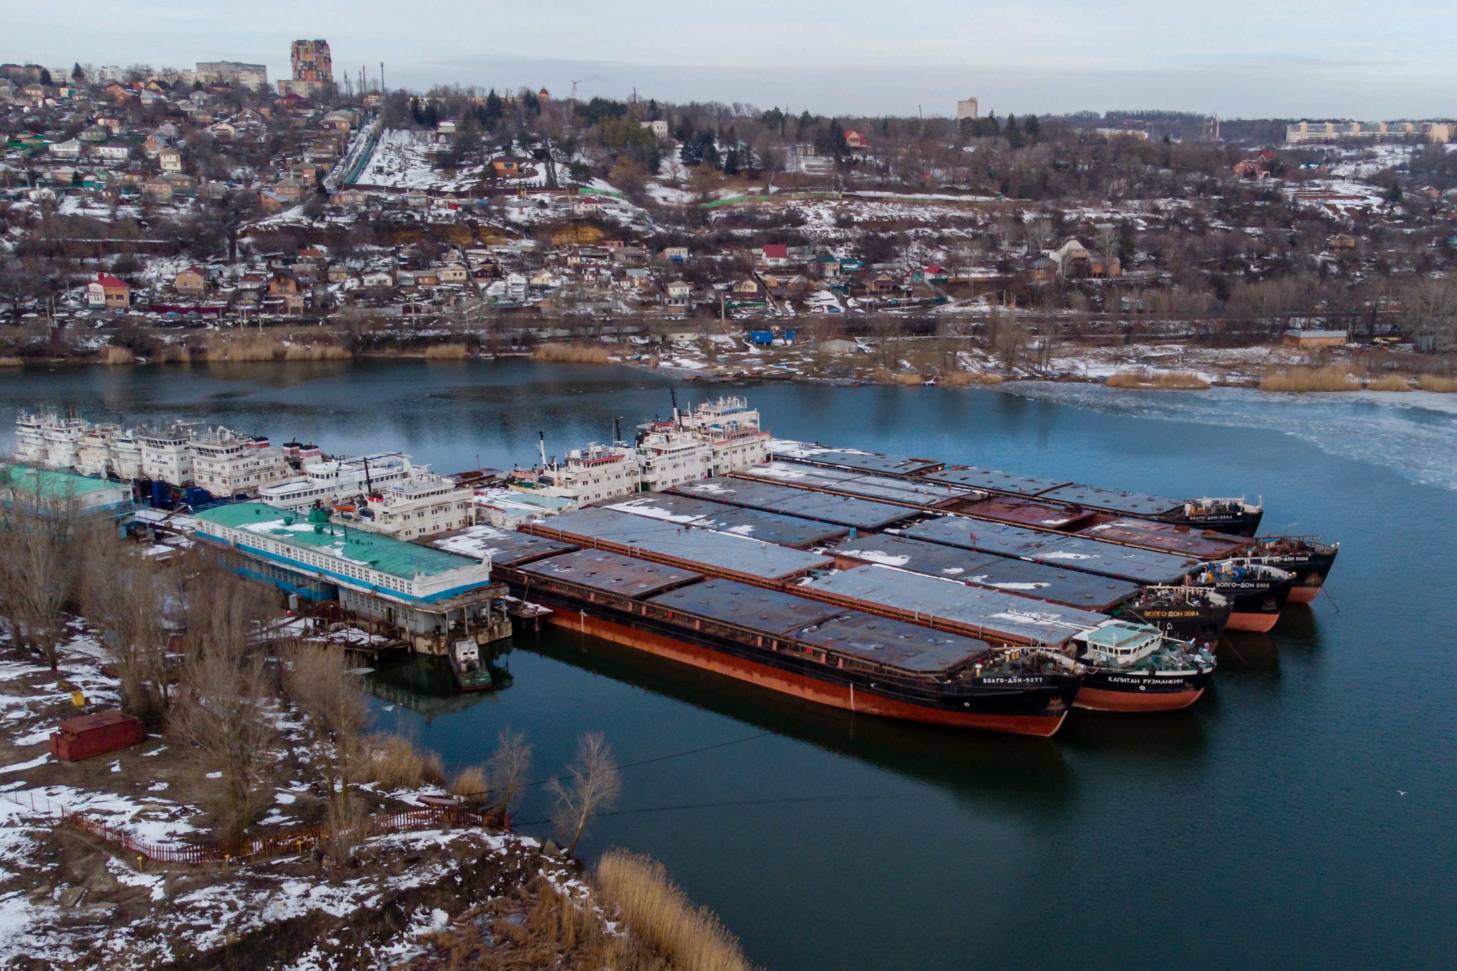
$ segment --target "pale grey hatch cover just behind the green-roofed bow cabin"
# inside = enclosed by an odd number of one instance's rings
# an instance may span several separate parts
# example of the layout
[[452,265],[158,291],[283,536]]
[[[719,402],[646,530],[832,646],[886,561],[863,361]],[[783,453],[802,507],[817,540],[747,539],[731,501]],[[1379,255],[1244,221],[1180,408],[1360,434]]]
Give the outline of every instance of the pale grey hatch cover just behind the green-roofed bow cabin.
[[1077,607],[1030,601],[879,563],[829,574],[797,590],[852,610],[890,613],[932,629],[950,627],[982,639],[1059,649],[1072,635],[1107,620]]

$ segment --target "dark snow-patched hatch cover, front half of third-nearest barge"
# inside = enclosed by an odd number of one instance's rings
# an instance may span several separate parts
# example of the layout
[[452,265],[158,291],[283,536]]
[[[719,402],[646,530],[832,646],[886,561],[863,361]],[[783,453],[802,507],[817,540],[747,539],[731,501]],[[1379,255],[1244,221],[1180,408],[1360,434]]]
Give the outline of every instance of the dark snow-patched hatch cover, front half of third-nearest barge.
[[927,576],[954,579],[1083,610],[1112,610],[1142,590],[1126,579],[1110,579],[1062,566],[1030,563],[997,553],[979,553],[900,536],[863,536],[825,552],[835,558],[898,566]]

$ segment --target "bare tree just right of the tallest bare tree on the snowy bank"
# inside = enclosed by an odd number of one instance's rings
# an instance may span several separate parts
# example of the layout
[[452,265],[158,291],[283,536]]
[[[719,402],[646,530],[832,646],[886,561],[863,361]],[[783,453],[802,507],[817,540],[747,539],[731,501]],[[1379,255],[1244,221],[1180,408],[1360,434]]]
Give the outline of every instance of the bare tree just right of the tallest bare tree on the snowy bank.
[[369,709],[354,687],[342,651],[293,642],[281,652],[284,691],[309,719],[313,767],[328,793],[335,833],[357,821],[351,786],[364,764]]

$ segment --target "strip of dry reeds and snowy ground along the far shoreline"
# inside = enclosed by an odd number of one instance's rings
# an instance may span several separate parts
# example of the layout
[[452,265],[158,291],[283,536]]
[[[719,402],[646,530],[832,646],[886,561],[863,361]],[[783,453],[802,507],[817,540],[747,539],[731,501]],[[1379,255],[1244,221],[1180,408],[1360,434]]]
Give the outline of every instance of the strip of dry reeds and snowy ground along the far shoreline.
[[[845,342],[841,342],[845,344]],[[1058,348],[1061,360],[1083,361],[1084,371],[1039,373],[1046,368],[1010,367],[998,368],[998,361],[985,361],[986,368],[966,367],[965,352],[949,352],[946,348],[919,349],[912,352],[909,342],[893,348],[861,348],[868,360],[845,367],[844,354],[822,354],[809,351],[809,367],[788,367],[771,361],[765,354],[766,367],[753,370],[734,364],[723,364],[721,345],[704,338],[695,342],[702,349],[707,362],[685,364],[669,345],[641,346],[606,344],[599,341],[546,341],[535,346],[510,348],[492,352],[475,335],[421,335],[396,346],[358,346],[350,333],[207,333],[192,335],[185,341],[152,341],[147,346],[109,344],[93,354],[76,354],[66,358],[0,357],[0,368],[23,368],[28,364],[102,364],[127,367],[137,364],[191,364],[191,362],[272,362],[272,361],[350,361],[357,358],[420,358],[425,361],[465,361],[485,357],[523,357],[533,361],[561,364],[625,364],[631,367],[672,368],[689,371],[689,380],[832,380],[857,384],[899,386],[995,386],[1018,380],[1052,380],[1072,383],[1101,383],[1107,387],[1126,390],[1206,390],[1214,386],[1250,387],[1263,392],[1311,393],[1311,392],[1434,392],[1457,393],[1457,376],[1418,373],[1410,361],[1396,362],[1383,354],[1380,361],[1367,362],[1321,362],[1316,355],[1311,361],[1269,362],[1243,367],[1238,373],[1220,373],[1217,367],[1163,368],[1148,364],[1120,367],[1112,374],[1104,362],[1097,361],[1093,373],[1087,364],[1107,348],[1077,346],[1064,344]],[[672,345],[678,346],[678,345]],[[797,349],[797,348],[796,348]],[[634,352],[635,351],[635,352]],[[715,352],[717,351],[717,352]],[[1405,365],[1405,370],[1403,367]]]

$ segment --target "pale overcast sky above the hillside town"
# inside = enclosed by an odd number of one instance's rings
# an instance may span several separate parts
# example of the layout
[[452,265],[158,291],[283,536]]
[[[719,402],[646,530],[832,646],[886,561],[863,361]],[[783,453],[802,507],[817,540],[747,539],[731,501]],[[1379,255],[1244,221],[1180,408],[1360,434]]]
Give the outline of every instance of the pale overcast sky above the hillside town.
[[10,0],[0,58],[48,67],[235,60],[287,77],[323,38],[337,77],[746,102],[839,115],[1180,109],[1457,115],[1447,0]]

